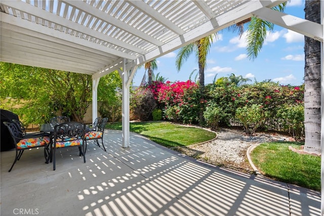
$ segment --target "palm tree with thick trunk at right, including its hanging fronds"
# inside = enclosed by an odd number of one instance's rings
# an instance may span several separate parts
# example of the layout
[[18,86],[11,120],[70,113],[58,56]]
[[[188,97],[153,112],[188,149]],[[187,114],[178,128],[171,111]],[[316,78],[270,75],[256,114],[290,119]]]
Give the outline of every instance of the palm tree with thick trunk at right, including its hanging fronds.
[[[273,8],[283,12],[286,3]],[[320,1],[305,1],[305,19],[320,23]],[[248,26],[248,56],[257,57],[266,37],[266,28],[273,24],[252,17]],[[241,31],[240,31],[241,32]],[[320,42],[305,36],[305,94],[304,94],[304,151],[320,153]]]

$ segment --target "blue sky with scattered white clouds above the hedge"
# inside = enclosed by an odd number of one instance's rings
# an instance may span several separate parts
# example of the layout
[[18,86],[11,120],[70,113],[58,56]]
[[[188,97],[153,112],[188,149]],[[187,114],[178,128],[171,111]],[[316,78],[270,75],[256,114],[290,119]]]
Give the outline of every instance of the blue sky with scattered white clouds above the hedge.
[[[304,18],[305,2],[291,0],[285,13]],[[171,82],[187,81],[191,72],[196,69],[191,79],[198,73],[198,64],[194,54],[184,63],[178,72],[175,66],[178,50],[157,58],[157,70],[154,74],[167,78]],[[253,83],[271,79],[281,85],[301,85],[304,83],[304,36],[294,31],[274,26],[267,34],[261,52],[255,60],[247,58],[245,37],[239,39],[237,33],[223,30],[218,32],[207,58],[205,84],[230,74],[249,78]],[[139,68],[133,79],[133,85],[139,86],[144,75],[144,67]]]

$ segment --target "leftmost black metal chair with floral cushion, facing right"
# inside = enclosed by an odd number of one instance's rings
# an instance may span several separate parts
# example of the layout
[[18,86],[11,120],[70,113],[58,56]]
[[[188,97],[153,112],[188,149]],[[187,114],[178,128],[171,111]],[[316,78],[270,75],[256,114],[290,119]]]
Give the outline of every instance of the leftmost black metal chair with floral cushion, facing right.
[[[39,134],[35,134],[34,136],[28,136],[28,137],[23,136],[22,133],[20,132],[20,128],[19,129],[17,128],[16,123],[4,122],[4,125],[7,126],[10,135],[15,142],[15,148],[16,148],[15,161],[12,164],[11,168],[9,169],[9,172],[12,170],[15,163],[21,158],[22,154],[24,153],[24,150],[46,147],[50,143],[49,136],[41,136]],[[47,159],[48,155],[49,152],[47,148],[44,148],[45,159]]]

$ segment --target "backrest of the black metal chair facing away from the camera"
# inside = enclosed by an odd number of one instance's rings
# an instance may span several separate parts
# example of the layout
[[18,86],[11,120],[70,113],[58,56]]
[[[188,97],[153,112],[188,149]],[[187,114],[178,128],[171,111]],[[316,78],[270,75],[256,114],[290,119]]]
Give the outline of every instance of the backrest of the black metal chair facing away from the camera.
[[85,139],[86,124],[81,122],[64,122],[54,126],[54,141],[73,141]]

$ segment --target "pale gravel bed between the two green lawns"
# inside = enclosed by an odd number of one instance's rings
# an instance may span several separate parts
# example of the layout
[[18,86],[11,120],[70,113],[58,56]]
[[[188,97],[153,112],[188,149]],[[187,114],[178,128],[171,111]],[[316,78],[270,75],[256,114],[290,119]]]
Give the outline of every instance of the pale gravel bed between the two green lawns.
[[217,138],[213,141],[173,150],[214,165],[253,172],[247,160],[247,149],[251,145],[268,141],[292,139],[277,133],[255,133],[250,136],[242,130],[224,128],[217,131]]

